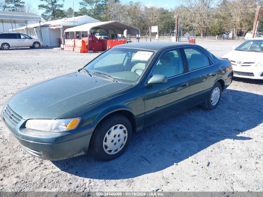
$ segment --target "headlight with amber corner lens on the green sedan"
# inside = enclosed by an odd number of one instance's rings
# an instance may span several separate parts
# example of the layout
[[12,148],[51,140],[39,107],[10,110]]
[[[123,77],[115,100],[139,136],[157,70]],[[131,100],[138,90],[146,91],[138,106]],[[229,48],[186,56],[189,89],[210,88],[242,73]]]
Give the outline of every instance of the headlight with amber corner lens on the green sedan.
[[63,132],[76,129],[81,118],[68,119],[31,119],[26,121],[26,128],[39,131]]

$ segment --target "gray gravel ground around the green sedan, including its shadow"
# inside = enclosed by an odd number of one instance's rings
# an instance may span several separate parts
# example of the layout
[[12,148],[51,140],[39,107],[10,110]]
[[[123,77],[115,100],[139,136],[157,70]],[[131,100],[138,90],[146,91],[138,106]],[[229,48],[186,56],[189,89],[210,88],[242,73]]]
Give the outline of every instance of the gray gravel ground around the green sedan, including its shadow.
[[[240,43],[197,44],[220,57]],[[73,72],[96,55],[47,48],[0,50],[0,107],[21,88]],[[0,190],[263,191],[262,85],[234,79],[215,110],[194,107],[145,128],[110,162],[90,154],[55,162],[33,157],[0,120]]]

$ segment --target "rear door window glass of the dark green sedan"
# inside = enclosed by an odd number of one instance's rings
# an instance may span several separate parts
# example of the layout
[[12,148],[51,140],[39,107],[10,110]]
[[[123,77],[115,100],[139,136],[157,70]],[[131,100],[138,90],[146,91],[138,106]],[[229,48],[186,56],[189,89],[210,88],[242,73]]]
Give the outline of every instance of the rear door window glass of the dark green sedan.
[[209,66],[209,59],[201,50],[197,48],[185,48],[184,49],[189,71],[196,70]]

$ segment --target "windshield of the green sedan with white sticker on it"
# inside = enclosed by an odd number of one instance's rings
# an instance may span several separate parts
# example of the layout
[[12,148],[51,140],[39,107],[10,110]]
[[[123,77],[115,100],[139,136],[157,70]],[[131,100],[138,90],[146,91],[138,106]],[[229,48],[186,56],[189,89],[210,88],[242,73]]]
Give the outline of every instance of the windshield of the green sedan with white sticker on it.
[[117,82],[136,83],[154,53],[142,49],[111,48],[84,68],[92,77],[107,79],[106,74]]

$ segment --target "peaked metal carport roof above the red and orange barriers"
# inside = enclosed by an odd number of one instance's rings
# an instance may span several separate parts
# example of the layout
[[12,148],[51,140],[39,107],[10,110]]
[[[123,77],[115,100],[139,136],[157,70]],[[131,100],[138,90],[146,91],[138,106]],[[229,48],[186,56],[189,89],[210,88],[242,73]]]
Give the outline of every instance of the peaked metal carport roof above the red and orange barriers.
[[119,21],[106,21],[106,22],[95,22],[86,23],[84,25],[71,27],[65,30],[68,31],[90,31],[91,29],[104,29],[109,32],[109,34],[123,34],[124,30],[127,30],[127,34],[140,34],[140,30],[136,27],[126,25]]

